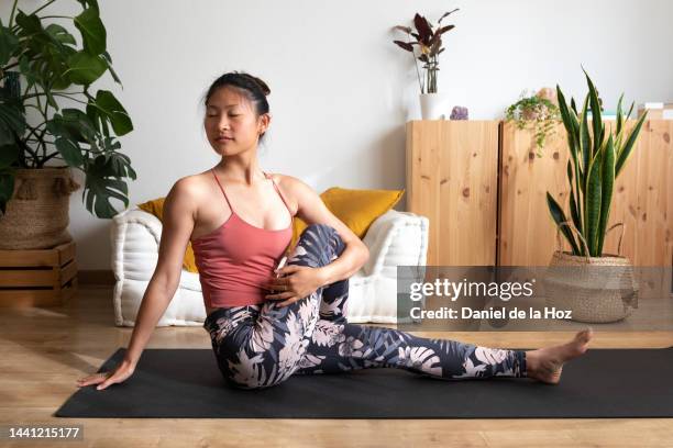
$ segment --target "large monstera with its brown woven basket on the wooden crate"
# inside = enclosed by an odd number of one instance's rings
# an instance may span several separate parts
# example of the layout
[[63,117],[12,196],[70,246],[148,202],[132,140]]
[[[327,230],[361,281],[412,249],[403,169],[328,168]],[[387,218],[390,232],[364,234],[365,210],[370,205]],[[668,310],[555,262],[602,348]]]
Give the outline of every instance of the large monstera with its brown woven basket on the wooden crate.
[[[30,14],[12,5],[0,21],[0,248],[47,248],[71,240],[68,197],[79,188],[76,168],[86,176],[82,201],[98,217],[112,217],[114,198],[129,205],[123,178],[135,179],[117,136],[133,130],[129,114],[108,90],[90,91],[112,69],[106,29],[96,0],[78,0],[75,18],[42,15],[55,0]],[[81,46],[57,23],[73,20]],[[21,83],[21,79],[24,83]],[[76,89],[76,90],[74,90]],[[60,108],[59,100],[78,107]],[[49,165],[60,163],[62,165]]]

